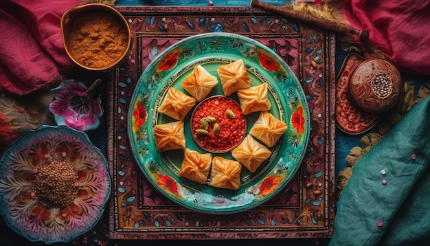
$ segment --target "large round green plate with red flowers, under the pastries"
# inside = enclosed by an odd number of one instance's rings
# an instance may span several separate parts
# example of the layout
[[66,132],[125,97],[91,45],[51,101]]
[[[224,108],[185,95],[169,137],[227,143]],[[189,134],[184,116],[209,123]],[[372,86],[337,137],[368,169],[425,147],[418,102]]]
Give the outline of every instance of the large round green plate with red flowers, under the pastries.
[[[191,122],[193,112],[200,102],[195,100],[194,104],[193,97],[183,88],[182,82],[194,72],[195,67],[201,66],[219,81],[207,94],[206,99],[226,96],[220,82],[218,68],[238,60],[242,60],[246,67],[250,87],[267,85],[267,100],[271,107],[264,111],[269,112],[279,122],[284,122],[286,131],[280,135],[273,146],[264,145],[257,140],[270,151],[269,157],[264,159],[253,172],[241,165],[238,187],[220,188],[212,186],[214,162],[204,182],[179,175],[186,149],[202,155],[210,153],[214,161],[215,157],[237,161],[231,153],[234,150],[208,152],[202,148],[201,143],[196,142]],[[190,100],[187,102],[194,104],[182,120],[175,120],[171,116],[159,113],[161,104],[172,88],[189,96]],[[237,91],[227,96],[240,103]],[[130,105],[128,111],[130,143],[137,165],[148,181],[172,201],[185,208],[208,214],[242,212],[271,199],[286,186],[299,168],[309,138],[308,104],[302,86],[293,71],[271,49],[258,41],[238,34],[198,34],[168,47],[152,60],[142,73]],[[226,110],[219,107],[219,111]],[[262,111],[242,114],[247,122],[244,137],[250,135],[260,113]],[[183,122],[183,128],[180,130],[185,137],[185,148],[157,150],[155,127],[173,122]],[[213,124],[210,124],[207,131],[213,132],[216,122],[209,123]],[[215,130],[215,132],[218,131]],[[231,134],[231,137],[237,136],[236,133]],[[256,137],[253,138],[256,139]],[[240,141],[242,139],[239,139]]]

